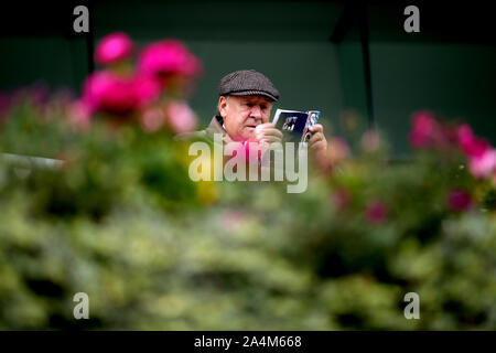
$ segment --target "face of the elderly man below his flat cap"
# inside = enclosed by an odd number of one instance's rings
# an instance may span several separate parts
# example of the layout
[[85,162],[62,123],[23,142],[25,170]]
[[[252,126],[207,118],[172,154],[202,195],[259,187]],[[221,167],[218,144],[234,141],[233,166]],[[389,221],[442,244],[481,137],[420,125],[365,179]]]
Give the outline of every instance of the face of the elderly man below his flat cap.
[[269,122],[272,100],[263,96],[228,96],[218,100],[227,133],[234,140],[255,141],[255,128]]

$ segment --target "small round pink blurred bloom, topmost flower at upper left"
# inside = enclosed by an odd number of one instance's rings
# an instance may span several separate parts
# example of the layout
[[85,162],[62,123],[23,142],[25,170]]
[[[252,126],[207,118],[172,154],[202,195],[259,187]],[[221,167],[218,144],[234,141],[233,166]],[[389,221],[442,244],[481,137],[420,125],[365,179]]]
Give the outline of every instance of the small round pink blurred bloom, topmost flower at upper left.
[[129,58],[132,54],[132,41],[123,32],[111,33],[104,36],[98,43],[95,60],[98,64],[108,65]]

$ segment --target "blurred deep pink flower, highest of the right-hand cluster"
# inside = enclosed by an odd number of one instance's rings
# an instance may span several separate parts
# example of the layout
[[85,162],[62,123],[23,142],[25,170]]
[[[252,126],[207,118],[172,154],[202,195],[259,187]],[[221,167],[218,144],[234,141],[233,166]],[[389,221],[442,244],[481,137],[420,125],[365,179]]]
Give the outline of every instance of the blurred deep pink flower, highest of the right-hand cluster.
[[441,126],[430,110],[416,111],[412,118],[413,127],[410,131],[410,143],[413,148],[429,148],[442,142]]

